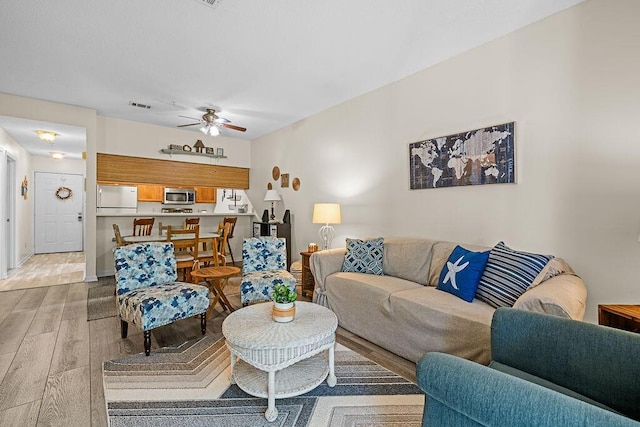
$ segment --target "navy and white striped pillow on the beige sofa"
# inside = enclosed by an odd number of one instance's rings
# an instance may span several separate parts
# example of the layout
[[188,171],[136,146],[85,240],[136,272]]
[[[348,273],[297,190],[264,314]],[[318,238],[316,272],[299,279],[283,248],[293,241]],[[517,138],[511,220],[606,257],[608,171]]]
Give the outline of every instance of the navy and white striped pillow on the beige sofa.
[[491,249],[476,298],[493,307],[512,307],[553,255],[514,251],[503,242]]

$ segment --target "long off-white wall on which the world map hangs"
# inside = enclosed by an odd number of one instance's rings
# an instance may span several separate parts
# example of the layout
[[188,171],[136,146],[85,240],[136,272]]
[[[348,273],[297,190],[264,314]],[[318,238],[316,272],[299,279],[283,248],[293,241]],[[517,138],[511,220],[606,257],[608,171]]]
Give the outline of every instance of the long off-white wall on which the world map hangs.
[[[313,204],[339,202],[344,238],[421,236],[565,258],[597,305],[640,302],[640,2],[590,0],[252,143],[294,214],[293,253],[317,241]],[[409,190],[408,144],[516,121],[517,184]],[[267,208],[256,203],[258,212]]]

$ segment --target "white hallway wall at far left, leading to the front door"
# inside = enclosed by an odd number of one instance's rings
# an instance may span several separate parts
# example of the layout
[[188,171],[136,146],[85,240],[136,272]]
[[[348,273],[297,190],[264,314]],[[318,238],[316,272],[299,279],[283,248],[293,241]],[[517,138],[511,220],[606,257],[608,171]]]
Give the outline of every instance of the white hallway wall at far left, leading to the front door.
[[[0,148],[4,149],[16,161],[16,194],[15,201],[15,241],[16,265],[20,265],[33,254],[33,173],[31,169],[32,156],[27,153],[4,129],[0,128]],[[0,166],[0,170],[4,171],[4,165]],[[27,198],[24,199],[20,193],[22,180],[27,177],[28,192]],[[4,203],[5,195],[2,194],[0,204]],[[28,218],[23,221],[22,218]],[[4,247],[4,243],[3,243]]]

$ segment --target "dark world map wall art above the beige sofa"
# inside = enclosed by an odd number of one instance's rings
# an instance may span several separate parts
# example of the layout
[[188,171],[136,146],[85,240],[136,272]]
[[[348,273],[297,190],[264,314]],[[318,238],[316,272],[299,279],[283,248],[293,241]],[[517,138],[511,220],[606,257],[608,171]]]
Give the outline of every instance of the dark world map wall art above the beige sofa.
[[409,144],[412,190],[515,182],[515,122]]

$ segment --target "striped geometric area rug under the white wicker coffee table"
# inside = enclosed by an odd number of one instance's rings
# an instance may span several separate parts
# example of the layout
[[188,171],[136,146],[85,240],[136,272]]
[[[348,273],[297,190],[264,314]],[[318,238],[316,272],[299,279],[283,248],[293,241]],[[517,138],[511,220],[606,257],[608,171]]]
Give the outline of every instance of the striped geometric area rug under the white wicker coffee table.
[[[221,334],[103,364],[111,427],[125,426],[420,426],[424,395],[410,381],[338,344],[338,383],[277,399],[267,422],[266,399],[229,383]],[[266,374],[265,374],[266,375]]]

